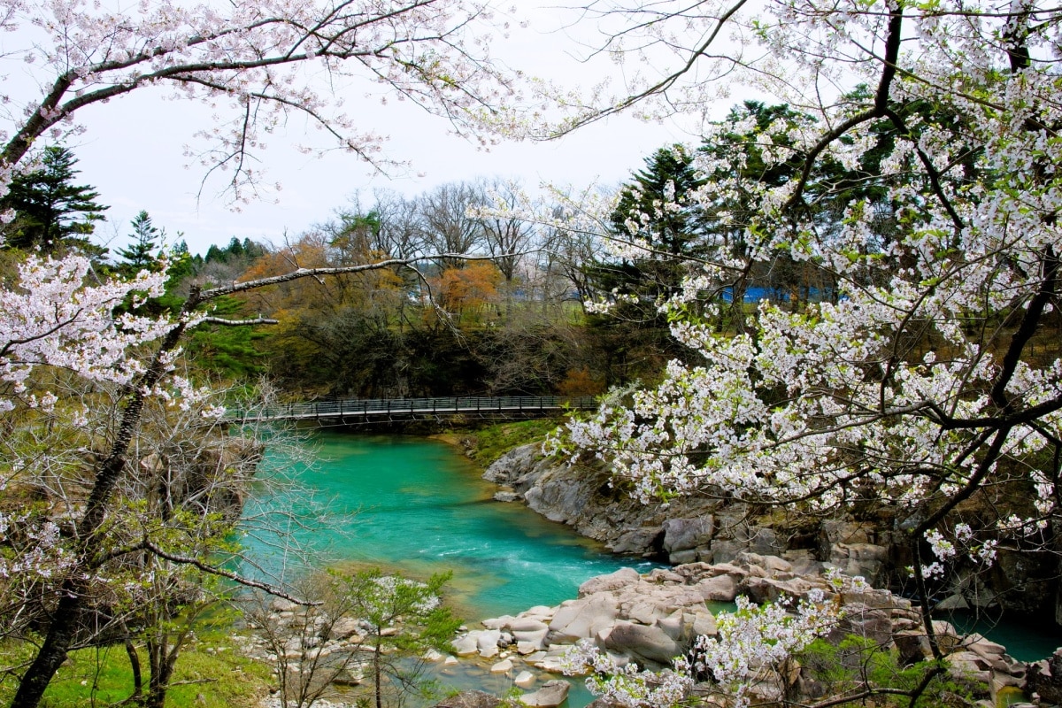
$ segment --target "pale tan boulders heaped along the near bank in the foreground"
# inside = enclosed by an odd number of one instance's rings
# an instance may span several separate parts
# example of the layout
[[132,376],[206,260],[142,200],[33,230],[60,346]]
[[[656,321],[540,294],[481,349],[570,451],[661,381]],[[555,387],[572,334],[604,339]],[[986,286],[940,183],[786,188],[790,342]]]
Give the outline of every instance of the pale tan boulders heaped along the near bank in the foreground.
[[[579,588],[577,599],[486,620],[483,629],[456,639],[453,649],[459,656],[491,663],[492,671],[511,674],[517,686],[529,685],[534,670],[561,671],[565,653],[583,639],[595,642],[619,664],[635,661],[644,668],[660,668],[687,652],[698,635],[717,635],[713,612],[721,607],[719,603],[733,602],[739,594],[757,603],[783,595],[803,599],[815,588],[843,609],[827,637],[834,643],[857,637],[862,646],[871,647],[868,652],[889,656],[897,667],[930,657],[921,614],[910,601],[888,590],[836,593],[822,574],[798,574],[784,558],[748,552],[733,563],[685,564],[646,575],[623,569],[594,577]],[[933,628],[948,654],[952,680],[979,698],[977,704],[965,705],[1006,705],[1025,686],[1026,664],[1007,655],[1004,646],[976,634],[960,636],[946,622],[935,621]],[[1062,676],[1062,654],[1057,662],[1057,668],[1049,662],[1034,664],[1030,675],[1054,670]],[[1054,686],[1050,678],[1039,686],[1048,685]],[[1030,688],[1035,690],[1037,685]],[[752,689],[757,700],[772,702],[781,700],[783,692],[813,701],[837,687],[809,668],[795,666],[785,676],[765,667]],[[542,703],[537,693],[527,696],[526,703],[555,705]]]

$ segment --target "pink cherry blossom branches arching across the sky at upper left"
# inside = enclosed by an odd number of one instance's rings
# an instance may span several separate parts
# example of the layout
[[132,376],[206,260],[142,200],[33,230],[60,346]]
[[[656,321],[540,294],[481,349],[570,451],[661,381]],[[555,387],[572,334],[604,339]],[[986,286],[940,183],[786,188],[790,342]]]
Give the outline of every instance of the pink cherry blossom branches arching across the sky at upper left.
[[516,73],[489,50],[507,21],[474,0],[4,0],[4,58],[35,86],[4,97],[0,165],[10,172],[39,139],[76,131],[86,106],[161,88],[216,110],[198,133],[205,146],[188,154],[227,170],[238,202],[263,187],[255,153],[296,115],[370,165],[394,166],[384,136],[344,105],[361,98],[356,82],[382,87],[373,100],[409,101],[469,136],[481,111],[515,97]]

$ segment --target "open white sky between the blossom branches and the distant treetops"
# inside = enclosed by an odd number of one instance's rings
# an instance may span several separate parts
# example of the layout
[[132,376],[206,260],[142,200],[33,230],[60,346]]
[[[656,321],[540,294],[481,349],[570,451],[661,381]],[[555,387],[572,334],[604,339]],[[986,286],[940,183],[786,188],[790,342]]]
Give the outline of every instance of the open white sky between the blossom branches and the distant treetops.
[[[569,85],[594,83],[603,67],[592,70],[568,55],[578,46],[563,32],[552,32],[561,24],[558,15],[543,11],[536,17],[526,34],[514,35],[500,47],[506,59],[529,73],[561,77]],[[390,136],[389,157],[411,161],[411,176],[389,179],[373,174],[365,163],[341,152],[323,158],[304,155],[293,148],[306,140],[304,125],[292,121],[288,134],[272,136],[270,149],[260,154],[269,179],[281,183],[282,191],[237,212],[219,196],[223,182],[211,178],[202,184],[203,168],[185,167],[189,159],[183,154],[184,145],[196,144],[192,136],[209,125],[209,111],[151,91],[138,90],[105,105],[86,107],[78,121],[87,131],[67,143],[80,160],[78,184],[95,187],[99,201],[110,206],[107,222],[97,227],[96,240],[112,251],[127,243],[130,221],[141,209],[151,214],[155,226],[166,228],[171,243],[182,231],[189,249],[202,254],[209,244],[225,244],[234,236],[280,243],[286,232],[294,237],[327,221],[358,190],[366,196],[376,188],[412,196],[443,183],[479,176],[516,177],[529,189],[543,182],[580,188],[594,182],[612,186],[644,167],[644,158],[657,148],[691,139],[674,124],[618,117],[555,142],[510,142],[481,152],[448,135],[449,125],[443,119],[394,101],[387,107],[369,99],[359,103],[354,93],[347,109],[363,113],[360,127]]]

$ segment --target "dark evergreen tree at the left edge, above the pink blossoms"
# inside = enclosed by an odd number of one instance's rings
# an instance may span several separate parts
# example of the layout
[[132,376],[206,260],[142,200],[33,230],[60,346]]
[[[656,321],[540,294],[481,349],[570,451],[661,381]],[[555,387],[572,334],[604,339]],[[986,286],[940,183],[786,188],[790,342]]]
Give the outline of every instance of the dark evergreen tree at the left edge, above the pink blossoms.
[[25,251],[55,253],[72,247],[91,256],[105,249],[89,243],[96,222],[108,207],[99,204],[99,192],[75,185],[78,159],[61,145],[45,148],[39,170],[17,175],[11,191],[0,198],[0,208],[13,209],[15,220],[4,229],[6,244]]

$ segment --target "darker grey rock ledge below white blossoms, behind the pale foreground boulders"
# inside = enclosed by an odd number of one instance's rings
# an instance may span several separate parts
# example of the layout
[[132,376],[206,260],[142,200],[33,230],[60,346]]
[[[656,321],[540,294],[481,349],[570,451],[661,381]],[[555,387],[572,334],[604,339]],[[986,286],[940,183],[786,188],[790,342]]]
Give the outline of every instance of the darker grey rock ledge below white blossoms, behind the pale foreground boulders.
[[[873,587],[892,588],[906,582],[906,568],[914,565],[906,536],[896,530],[900,521],[888,510],[818,519],[696,497],[640,504],[614,487],[602,466],[568,466],[543,455],[537,444],[502,455],[483,479],[500,486],[495,495],[499,501],[524,502],[616,553],[670,564],[731,563],[741,553],[775,555],[799,574],[813,575],[828,566],[862,576]],[[940,588],[941,609],[998,607],[1062,623],[1058,557],[1045,546],[1000,545],[988,572],[961,567],[961,558],[957,563],[952,584]]]

